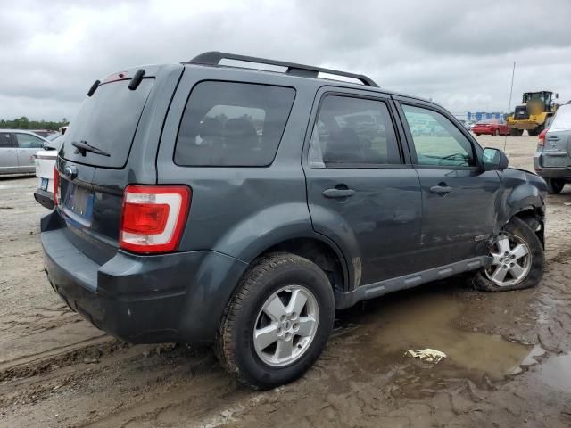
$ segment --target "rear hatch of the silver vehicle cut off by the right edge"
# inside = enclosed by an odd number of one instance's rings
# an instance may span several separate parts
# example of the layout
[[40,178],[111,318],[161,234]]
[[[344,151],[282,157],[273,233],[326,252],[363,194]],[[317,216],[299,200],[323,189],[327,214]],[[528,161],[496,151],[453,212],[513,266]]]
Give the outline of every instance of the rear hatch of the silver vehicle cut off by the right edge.
[[571,167],[571,104],[559,107],[544,144],[543,167]]

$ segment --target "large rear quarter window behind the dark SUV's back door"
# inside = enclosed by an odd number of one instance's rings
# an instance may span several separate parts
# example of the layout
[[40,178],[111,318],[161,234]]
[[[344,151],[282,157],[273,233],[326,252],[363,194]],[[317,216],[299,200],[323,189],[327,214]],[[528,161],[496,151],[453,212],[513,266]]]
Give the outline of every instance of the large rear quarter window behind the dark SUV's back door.
[[175,163],[196,167],[269,165],[294,97],[291,87],[199,83],[180,122]]

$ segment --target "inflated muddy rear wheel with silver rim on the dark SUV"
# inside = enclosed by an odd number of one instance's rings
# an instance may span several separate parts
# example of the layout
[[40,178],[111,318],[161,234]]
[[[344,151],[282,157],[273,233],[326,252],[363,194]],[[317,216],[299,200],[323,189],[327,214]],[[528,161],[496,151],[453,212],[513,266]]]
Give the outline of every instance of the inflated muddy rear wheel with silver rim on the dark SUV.
[[[288,292],[284,290],[287,287],[292,289]],[[302,294],[302,289],[306,294]],[[294,294],[296,290],[297,294]],[[309,297],[300,313],[288,312],[288,303],[294,300],[294,296],[299,300],[303,295]],[[279,307],[279,302],[283,306]],[[277,307],[285,309],[285,315],[275,317],[274,314],[270,318],[266,310],[272,309],[273,313]],[[301,325],[305,325],[303,329],[310,325],[311,317],[317,319],[315,326],[311,327],[313,333],[306,337],[298,335],[302,332]],[[274,388],[293,382],[313,365],[326,347],[334,319],[334,293],[325,273],[308,259],[285,252],[274,253],[252,264],[244,274],[220,321],[216,355],[220,364],[240,382],[255,389]],[[295,320],[298,330],[294,330]],[[261,345],[256,341],[254,333],[264,328],[271,329],[270,340],[276,341],[275,350],[274,342],[263,350],[259,349],[265,343]],[[277,333],[282,334],[280,339],[274,338]],[[280,349],[284,350],[289,349],[287,346],[291,342],[291,362],[278,361],[280,341],[283,344]],[[294,355],[295,352],[299,354]],[[272,358],[275,361],[269,361]]]

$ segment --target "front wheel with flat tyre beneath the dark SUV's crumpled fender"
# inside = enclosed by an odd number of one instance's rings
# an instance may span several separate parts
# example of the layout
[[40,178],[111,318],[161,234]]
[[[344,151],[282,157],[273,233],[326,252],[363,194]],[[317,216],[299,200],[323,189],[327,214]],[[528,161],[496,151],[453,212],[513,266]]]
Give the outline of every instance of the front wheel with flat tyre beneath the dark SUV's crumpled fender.
[[525,221],[512,218],[490,249],[492,264],[476,275],[474,284],[486,292],[534,287],[543,276],[545,258],[537,235]]

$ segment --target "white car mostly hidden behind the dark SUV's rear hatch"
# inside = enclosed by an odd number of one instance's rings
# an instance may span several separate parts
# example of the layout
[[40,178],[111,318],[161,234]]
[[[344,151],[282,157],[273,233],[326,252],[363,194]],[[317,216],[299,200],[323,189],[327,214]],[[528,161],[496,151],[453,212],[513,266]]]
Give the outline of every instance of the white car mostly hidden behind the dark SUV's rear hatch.
[[63,136],[58,136],[34,155],[37,177],[37,191],[34,193],[34,198],[50,210],[54,208],[55,159],[62,143]]

